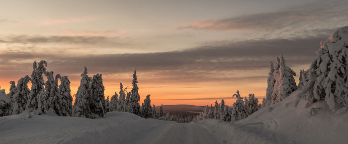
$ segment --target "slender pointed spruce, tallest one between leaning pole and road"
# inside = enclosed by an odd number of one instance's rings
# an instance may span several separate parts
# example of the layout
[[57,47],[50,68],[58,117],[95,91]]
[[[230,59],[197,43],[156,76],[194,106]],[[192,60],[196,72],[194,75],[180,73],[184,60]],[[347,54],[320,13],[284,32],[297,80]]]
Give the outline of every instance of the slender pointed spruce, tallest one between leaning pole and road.
[[[130,108],[129,108],[129,112],[135,115],[140,115],[140,105],[139,105],[139,101],[140,101],[140,95],[138,93],[139,88],[138,88],[138,81],[137,81],[137,72],[136,70],[134,71],[133,74],[133,88],[130,92],[130,99],[129,99],[129,104],[130,104]],[[150,105],[151,106],[151,105]]]

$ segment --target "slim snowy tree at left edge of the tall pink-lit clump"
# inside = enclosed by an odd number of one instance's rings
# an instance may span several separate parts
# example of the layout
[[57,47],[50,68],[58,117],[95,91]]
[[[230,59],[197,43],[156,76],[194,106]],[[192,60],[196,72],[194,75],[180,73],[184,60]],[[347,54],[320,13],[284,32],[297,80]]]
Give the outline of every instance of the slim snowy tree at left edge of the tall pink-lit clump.
[[270,62],[270,72],[268,73],[268,78],[267,78],[267,89],[266,89],[266,98],[265,98],[265,105],[267,106],[272,103],[272,92],[273,92],[274,84],[275,84],[273,72],[274,72],[274,66],[273,66],[273,63]]

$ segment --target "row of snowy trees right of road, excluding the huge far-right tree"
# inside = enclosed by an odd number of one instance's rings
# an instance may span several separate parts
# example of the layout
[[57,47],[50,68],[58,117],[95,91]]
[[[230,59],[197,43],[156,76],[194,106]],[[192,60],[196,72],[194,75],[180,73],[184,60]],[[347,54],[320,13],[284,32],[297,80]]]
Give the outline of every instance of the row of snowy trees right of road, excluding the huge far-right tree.
[[230,122],[245,119],[262,107],[281,102],[292,92],[297,90],[298,87],[303,87],[303,84],[307,80],[305,72],[301,70],[302,77],[300,77],[299,86],[296,86],[294,79],[296,73],[285,65],[283,55],[276,58],[275,66],[272,62],[270,62],[270,65],[270,72],[267,78],[266,97],[262,99],[262,103],[259,103],[259,100],[255,98],[254,94],[249,94],[249,99],[247,97],[241,97],[237,90],[237,93],[232,96],[232,98],[237,98],[232,107],[225,105],[223,99],[220,104],[215,101],[214,107],[212,105],[210,105],[210,107],[207,105],[203,108],[203,112],[196,116],[193,121],[199,122],[204,119],[217,119]]

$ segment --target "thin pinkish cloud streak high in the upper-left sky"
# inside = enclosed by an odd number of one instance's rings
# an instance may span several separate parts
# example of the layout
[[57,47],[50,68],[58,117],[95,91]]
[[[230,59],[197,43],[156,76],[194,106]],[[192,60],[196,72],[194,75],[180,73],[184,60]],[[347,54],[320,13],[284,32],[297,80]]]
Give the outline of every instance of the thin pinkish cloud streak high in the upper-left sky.
[[76,22],[86,22],[95,21],[105,18],[104,15],[86,15],[80,17],[69,17],[69,18],[45,18],[38,21],[41,25],[54,25],[54,24],[64,24],[64,23],[76,23]]

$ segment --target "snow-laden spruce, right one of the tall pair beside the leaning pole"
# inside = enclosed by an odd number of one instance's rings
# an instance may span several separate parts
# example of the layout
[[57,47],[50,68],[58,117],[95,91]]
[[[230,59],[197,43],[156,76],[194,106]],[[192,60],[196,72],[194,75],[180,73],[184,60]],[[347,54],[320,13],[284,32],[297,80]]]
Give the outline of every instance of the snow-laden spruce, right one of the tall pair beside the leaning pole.
[[[90,95],[88,98],[90,118],[103,118],[103,110],[105,110],[104,86],[101,74],[93,75],[90,87]],[[100,106],[101,102],[101,106]]]

